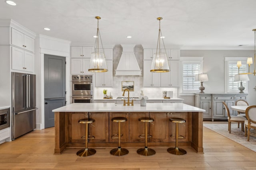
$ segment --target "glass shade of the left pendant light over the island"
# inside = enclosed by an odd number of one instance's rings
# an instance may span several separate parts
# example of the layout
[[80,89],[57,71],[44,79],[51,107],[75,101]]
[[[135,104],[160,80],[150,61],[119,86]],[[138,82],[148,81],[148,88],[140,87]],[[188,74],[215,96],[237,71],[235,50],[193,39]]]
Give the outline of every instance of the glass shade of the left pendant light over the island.
[[90,67],[88,71],[91,71],[91,72],[108,71],[104,53],[100,53],[100,52],[92,53],[91,60],[90,60]]

